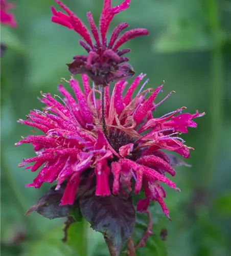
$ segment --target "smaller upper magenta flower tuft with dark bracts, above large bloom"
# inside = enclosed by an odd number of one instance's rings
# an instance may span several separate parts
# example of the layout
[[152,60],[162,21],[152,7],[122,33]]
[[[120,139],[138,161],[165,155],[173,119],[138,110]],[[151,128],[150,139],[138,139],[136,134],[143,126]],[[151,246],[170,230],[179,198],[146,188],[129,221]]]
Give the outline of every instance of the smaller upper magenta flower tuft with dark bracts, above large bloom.
[[87,13],[90,30],[95,42],[91,39],[88,29],[81,20],[61,1],[55,0],[55,2],[60,5],[66,14],[56,11],[52,7],[52,22],[75,30],[83,38],[83,40],[79,40],[80,45],[87,51],[87,55],[75,56],[74,61],[67,64],[73,75],[86,74],[96,84],[102,86],[108,86],[110,82],[123,80],[134,75],[133,68],[127,63],[129,59],[124,57],[124,54],[130,52],[130,49],[119,48],[128,40],[137,36],[148,35],[149,32],[146,29],[137,28],[128,30],[122,36],[119,36],[128,27],[127,23],[121,23],[113,30],[110,40],[106,38],[114,15],[127,9],[130,0],[125,0],[116,7],[111,7],[111,0],[104,0],[99,23],[100,31],[98,31],[94,22],[93,15],[90,12]]

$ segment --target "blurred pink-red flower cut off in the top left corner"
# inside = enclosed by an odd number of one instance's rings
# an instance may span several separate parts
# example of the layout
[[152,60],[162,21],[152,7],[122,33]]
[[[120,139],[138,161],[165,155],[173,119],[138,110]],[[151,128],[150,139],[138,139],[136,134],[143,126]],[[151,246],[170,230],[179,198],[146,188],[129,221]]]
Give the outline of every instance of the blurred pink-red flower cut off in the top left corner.
[[13,7],[14,4],[8,3],[7,0],[0,0],[0,23],[11,27],[17,26],[14,15],[9,13],[9,10]]

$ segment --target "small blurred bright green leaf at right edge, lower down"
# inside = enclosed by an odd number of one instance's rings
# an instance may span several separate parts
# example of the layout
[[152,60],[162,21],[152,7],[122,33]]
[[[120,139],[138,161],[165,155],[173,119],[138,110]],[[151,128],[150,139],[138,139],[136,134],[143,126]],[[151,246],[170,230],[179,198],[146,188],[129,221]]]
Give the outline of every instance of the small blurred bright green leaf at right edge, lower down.
[[231,216],[231,191],[227,191],[216,198],[214,208],[222,215]]

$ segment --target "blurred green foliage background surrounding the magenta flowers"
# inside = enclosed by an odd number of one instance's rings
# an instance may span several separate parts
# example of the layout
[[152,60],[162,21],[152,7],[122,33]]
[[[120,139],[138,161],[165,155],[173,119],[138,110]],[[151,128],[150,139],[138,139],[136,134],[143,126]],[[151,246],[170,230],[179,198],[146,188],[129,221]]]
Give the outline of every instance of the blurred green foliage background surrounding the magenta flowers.
[[[114,0],[113,5],[122,0]],[[16,1],[15,1],[16,2]],[[100,17],[102,0],[63,0],[86,23],[87,11]],[[53,0],[19,0],[14,10],[17,29],[1,27],[0,41],[8,46],[0,59],[1,103],[1,235],[3,256],[77,255],[62,244],[62,221],[26,210],[45,193],[25,188],[35,173],[18,168],[24,157],[34,155],[30,145],[15,147],[31,128],[16,122],[32,109],[41,109],[40,91],[57,93],[61,77],[68,79],[65,63],[77,54],[80,37],[51,23]],[[57,6],[57,5],[56,5]],[[187,106],[190,113],[205,111],[197,129],[183,134],[195,148],[187,160],[192,167],[177,167],[172,180],[181,189],[167,190],[166,204],[172,222],[166,221],[169,256],[230,255],[231,250],[231,1],[230,0],[131,0],[130,8],[114,18],[130,28],[145,27],[150,36],[127,43],[127,56],[136,74],[147,73],[149,87],[166,81],[163,98],[173,94],[155,116]],[[111,31],[111,30],[110,30]],[[78,226],[73,241],[79,255],[108,255],[101,234],[86,223]],[[155,245],[154,245],[155,246]],[[87,253],[86,253],[87,250]],[[165,255],[161,250],[139,255]]]

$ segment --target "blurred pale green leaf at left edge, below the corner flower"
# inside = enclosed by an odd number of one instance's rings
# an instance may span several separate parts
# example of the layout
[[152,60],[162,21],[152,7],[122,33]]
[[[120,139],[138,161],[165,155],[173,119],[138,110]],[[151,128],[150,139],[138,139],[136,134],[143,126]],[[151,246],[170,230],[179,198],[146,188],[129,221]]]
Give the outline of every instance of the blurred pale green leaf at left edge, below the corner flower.
[[1,43],[7,46],[7,48],[13,49],[20,54],[26,54],[27,50],[22,45],[18,37],[13,34],[10,28],[0,25]]

